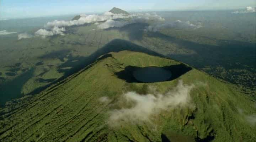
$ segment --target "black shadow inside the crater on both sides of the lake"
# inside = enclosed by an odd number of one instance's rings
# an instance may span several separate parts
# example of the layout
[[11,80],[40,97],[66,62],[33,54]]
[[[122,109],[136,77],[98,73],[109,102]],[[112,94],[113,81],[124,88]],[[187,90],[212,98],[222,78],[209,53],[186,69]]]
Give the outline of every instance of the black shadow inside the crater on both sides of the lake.
[[[127,66],[123,71],[116,72],[115,75],[122,79],[125,80],[128,83],[143,83],[139,80],[137,80],[134,77],[134,71],[137,71],[141,69],[141,67],[136,67],[136,66]],[[171,81],[175,80],[176,78],[182,76],[183,74],[187,73],[188,71],[192,70],[191,67],[185,65],[185,64],[178,64],[178,65],[171,65],[171,66],[164,66],[162,69],[168,70],[171,72],[171,77],[166,80],[166,81]]]

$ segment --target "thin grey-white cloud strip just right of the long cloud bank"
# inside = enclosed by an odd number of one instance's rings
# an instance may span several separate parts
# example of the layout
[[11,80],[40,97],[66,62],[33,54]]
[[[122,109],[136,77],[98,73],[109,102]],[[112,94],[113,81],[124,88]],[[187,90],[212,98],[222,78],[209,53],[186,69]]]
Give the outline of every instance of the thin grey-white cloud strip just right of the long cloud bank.
[[172,23],[164,23],[164,24],[156,24],[154,26],[148,26],[144,29],[144,31],[146,32],[157,32],[161,29],[165,29],[165,28],[192,28],[192,29],[198,29],[202,27],[202,23],[198,23],[198,24],[193,24],[190,21],[180,21],[177,20],[175,22]]

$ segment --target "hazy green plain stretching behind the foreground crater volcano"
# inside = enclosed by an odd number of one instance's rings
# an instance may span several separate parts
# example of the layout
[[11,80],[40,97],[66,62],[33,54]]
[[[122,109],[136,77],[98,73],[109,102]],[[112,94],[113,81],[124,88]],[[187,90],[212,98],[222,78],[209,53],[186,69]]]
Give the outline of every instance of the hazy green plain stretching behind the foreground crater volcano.
[[[73,73],[72,70],[75,68],[85,66],[86,57],[106,45],[128,47],[127,42],[123,41],[126,40],[144,47],[145,50],[153,50],[234,83],[255,99],[255,15],[226,18],[230,15],[226,15],[225,11],[221,14],[214,11],[203,13],[157,13],[162,14],[166,21],[187,21],[191,16],[192,23],[203,23],[203,27],[196,30],[170,28],[150,33],[143,31],[150,23],[134,23],[119,29],[107,30],[97,29],[97,25],[94,24],[85,24],[66,28],[65,36],[22,40],[17,40],[15,34],[14,37],[1,36],[0,89],[8,90],[8,82],[34,68],[33,75],[27,82],[23,82],[21,92],[16,92],[18,94],[12,96],[18,98],[23,94],[33,93],[35,89],[64,77],[68,70]],[[218,17],[214,17],[215,15]],[[69,20],[71,18],[73,17]],[[38,28],[29,30],[28,33],[34,33]],[[116,39],[122,40],[116,42]],[[129,50],[128,48],[126,50]],[[1,100],[6,100],[5,98],[8,97],[0,96]],[[4,104],[5,102],[1,101],[0,105]]]

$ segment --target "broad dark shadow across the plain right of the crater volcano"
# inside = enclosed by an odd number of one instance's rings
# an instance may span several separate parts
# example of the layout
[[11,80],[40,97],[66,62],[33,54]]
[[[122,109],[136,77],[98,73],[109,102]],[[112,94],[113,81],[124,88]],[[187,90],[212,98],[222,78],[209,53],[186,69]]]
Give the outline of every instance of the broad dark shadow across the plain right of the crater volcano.
[[[254,43],[217,40],[217,45],[208,45],[177,39],[160,32],[147,32],[146,36],[161,38],[177,44],[178,48],[195,51],[196,54],[168,54],[167,56],[197,68],[202,68],[206,65],[213,67],[223,66],[225,69],[240,68],[241,65],[256,66],[256,62],[252,62],[252,60],[256,60],[256,45]],[[237,64],[238,62],[240,65]]]

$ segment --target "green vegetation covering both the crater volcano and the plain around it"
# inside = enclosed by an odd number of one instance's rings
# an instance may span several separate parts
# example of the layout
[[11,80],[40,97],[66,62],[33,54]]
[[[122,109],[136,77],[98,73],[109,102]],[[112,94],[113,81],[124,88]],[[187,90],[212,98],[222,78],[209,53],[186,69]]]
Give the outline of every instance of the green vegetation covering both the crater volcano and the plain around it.
[[[255,15],[159,13],[166,21],[203,27],[145,32],[154,23],[106,30],[84,24],[66,27],[64,36],[17,40],[15,34],[2,35],[0,141],[254,141]],[[165,82],[135,80],[130,69],[147,66],[176,75]],[[162,110],[150,122],[108,123],[113,110],[134,105],[123,100],[124,93],[146,96],[155,88],[165,94],[179,80],[201,83],[190,92],[192,107]]]

